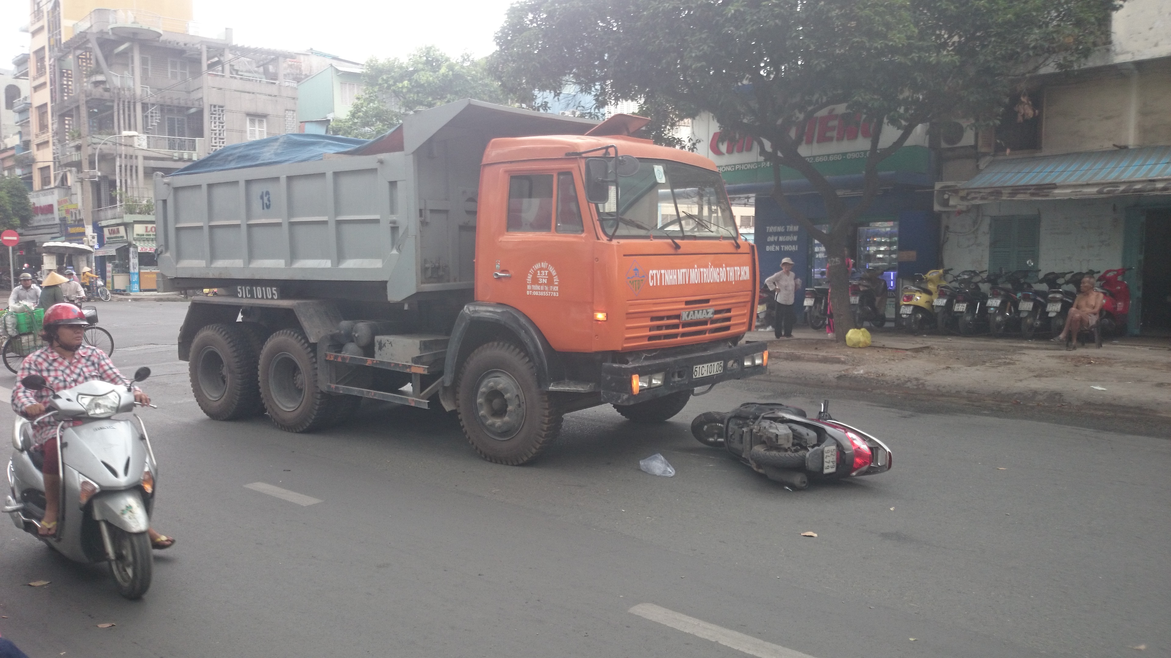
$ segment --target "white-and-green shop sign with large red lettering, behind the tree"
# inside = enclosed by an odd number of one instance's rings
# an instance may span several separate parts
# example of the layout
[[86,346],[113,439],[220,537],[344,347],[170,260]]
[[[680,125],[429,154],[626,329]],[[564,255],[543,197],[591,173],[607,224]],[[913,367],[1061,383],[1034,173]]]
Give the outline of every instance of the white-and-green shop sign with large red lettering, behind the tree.
[[[861,115],[845,112],[845,105],[834,105],[817,112],[803,128],[797,152],[804,156],[824,176],[862,173],[874,126]],[[796,129],[794,129],[794,133]],[[704,114],[692,122],[692,135],[699,139],[698,152],[715,163],[724,181],[771,183],[772,169],[765,163],[760,145],[751,137],[720,130],[719,122]],[[898,131],[885,126],[878,148],[892,144]],[[913,171],[930,173],[927,125],[915,129],[902,149],[878,165],[878,171]],[[796,170],[783,167],[782,180],[803,179]]]

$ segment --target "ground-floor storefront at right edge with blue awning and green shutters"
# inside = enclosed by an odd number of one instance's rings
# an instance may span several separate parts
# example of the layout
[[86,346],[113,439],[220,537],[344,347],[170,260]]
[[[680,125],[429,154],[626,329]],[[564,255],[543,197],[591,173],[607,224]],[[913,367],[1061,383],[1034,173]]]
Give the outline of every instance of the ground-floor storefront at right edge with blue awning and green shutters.
[[1129,267],[1127,333],[1171,335],[1171,146],[998,159],[949,193],[947,267]]

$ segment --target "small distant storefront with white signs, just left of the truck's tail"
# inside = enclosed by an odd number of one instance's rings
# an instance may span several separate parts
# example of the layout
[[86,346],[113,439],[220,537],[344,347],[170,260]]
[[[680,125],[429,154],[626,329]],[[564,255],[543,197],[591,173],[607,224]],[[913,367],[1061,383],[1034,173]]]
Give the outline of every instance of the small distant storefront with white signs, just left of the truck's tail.
[[155,260],[155,217],[128,214],[102,222],[100,275],[111,290],[138,293],[158,289]]

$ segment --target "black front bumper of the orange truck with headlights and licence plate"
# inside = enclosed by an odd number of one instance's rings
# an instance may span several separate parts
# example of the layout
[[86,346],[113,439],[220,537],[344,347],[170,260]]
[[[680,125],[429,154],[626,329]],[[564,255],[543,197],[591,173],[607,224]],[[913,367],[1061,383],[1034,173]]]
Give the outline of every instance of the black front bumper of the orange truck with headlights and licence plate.
[[[714,373],[710,373],[717,371]],[[677,391],[745,379],[768,371],[768,343],[712,348],[637,363],[602,364],[602,402],[638,404]],[[637,379],[635,378],[637,376]],[[637,390],[637,392],[636,392]]]

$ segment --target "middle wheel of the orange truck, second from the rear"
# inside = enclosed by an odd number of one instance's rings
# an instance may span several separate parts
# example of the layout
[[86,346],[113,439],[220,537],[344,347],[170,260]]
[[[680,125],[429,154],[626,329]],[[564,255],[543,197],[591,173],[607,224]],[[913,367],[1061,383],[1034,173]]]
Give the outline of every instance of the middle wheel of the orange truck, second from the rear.
[[260,350],[260,395],[273,425],[308,432],[330,420],[330,395],[317,388],[317,359],[304,334],[281,329]]

